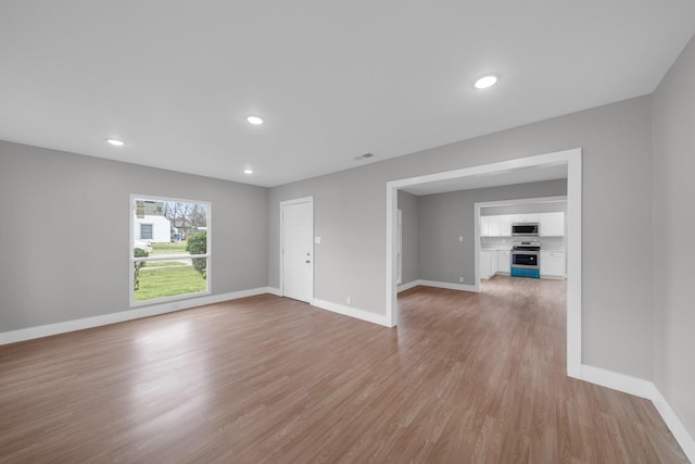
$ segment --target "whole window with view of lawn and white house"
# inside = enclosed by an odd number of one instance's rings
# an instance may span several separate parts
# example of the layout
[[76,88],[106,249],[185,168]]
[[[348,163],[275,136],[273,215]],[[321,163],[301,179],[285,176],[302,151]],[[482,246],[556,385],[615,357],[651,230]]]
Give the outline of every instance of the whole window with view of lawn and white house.
[[210,293],[205,201],[130,197],[130,305]]

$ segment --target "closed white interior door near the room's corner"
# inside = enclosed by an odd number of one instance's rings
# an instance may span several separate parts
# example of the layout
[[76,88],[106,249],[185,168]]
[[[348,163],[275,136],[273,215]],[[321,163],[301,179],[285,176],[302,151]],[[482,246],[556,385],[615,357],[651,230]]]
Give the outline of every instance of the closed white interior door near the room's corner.
[[282,296],[312,302],[314,298],[314,200],[280,203]]

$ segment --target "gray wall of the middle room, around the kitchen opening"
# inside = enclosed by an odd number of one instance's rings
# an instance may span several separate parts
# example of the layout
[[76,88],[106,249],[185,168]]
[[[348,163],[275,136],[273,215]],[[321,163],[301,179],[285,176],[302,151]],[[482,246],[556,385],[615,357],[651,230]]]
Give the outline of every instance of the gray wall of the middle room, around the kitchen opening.
[[476,202],[564,195],[567,180],[560,179],[419,197],[419,278],[458,284],[463,276],[464,284],[473,284]]

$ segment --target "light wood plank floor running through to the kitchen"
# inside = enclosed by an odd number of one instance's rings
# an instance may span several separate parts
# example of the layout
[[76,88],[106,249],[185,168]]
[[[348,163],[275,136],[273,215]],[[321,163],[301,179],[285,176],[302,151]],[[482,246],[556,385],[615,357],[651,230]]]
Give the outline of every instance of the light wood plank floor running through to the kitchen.
[[672,463],[565,376],[565,283],[417,287],[389,329],[260,296],[0,347],[0,462]]

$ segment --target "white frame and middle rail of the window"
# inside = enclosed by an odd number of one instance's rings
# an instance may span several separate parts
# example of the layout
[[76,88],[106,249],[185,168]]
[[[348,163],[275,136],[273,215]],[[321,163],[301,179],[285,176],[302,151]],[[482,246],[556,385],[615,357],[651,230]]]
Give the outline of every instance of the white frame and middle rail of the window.
[[[157,298],[155,300],[148,300],[148,301],[135,301],[135,289],[132,288],[132,279],[135,277],[135,262],[136,261],[154,261],[154,262],[159,262],[159,261],[176,261],[176,260],[180,260],[181,255],[157,255],[154,258],[148,256],[148,258],[135,258],[132,254],[132,243],[136,241],[135,239],[135,235],[134,235],[134,229],[135,229],[135,214],[134,214],[134,208],[135,208],[135,201],[136,200],[154,200],[154,201],[167,201],[167,202],[181,202],[181,203],[199,203],[199,204],[204,204],[205,208],[207,209],[207,222],[206,222],[206,227],[207,227],[207,252],[205,254],[195,254],[195,259],[199,258],[205,258],[207,260],[207,266],[206,266],[206,271],[205,271],[205,291],[199,291],[199,292],[194,292],[194,293],[185,293],[185,294],[177,294],[175,297],[165,297],[165,298]],[[155,195],[130,195],[130,199],[129,199],[129,203],[128,203],[128,223],[129,223],[129,233],[128,233],[128,296],[129,296],[129,301],[130,301],[130,308],[140,308],[140,306],[148,306],[148,305],[152,305],[152,304],[161,304],[161,303],[168,303],[168,302],[173,302],[173,301],[179,301],[179,300],[189,300],[191,298],[198,298],[198,297],[204,297],[207,294],[211,294],[211,288],[212,288],[212,217],[213,217],[213,212],[212,212],[212,203],[210,201],[202,201],[202,200],[188,200],[188,199],[184,199],[184,198],[169,198],[169,197],[159,197]],[[152,230],[153,237],[154,237],[154,229]],[[138,239],[140,240],[140,239]]]

